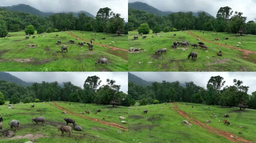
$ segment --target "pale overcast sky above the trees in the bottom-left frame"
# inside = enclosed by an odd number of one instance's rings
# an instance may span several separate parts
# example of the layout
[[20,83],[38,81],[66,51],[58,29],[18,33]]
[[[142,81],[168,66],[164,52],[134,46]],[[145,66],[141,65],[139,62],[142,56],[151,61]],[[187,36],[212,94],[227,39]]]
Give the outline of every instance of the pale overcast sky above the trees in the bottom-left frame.
[[102,80],[101,85],[106,85],[107,79],[116,80],[117,85],[121,85],[121,91],[128,91],[127,72],[7,72],[25,82],[72,82],[73,85],[83,88],[83,83],[88,76],[98,76]]

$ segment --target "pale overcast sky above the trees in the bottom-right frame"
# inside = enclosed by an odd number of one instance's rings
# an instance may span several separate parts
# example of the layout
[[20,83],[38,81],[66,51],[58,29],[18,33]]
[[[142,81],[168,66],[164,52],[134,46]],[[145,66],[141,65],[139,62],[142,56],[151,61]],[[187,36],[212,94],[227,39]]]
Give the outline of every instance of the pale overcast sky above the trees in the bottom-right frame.
[[224,77],[225,85],[234,85],[233,79],[242,80],[244,86],[249,86],[249,94],[256,91],[256,72],[130,72],[148,82],[179,81],[180,83],[194,82],[206,88],[211,76]]

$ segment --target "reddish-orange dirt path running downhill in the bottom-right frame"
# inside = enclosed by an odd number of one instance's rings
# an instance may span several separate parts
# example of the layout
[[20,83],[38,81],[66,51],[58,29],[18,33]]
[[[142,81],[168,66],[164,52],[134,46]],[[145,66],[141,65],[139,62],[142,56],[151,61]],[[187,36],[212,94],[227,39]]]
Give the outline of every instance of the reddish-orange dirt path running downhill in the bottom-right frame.
[[[232,142],[235,142],[235,143],[253,143],[250,140],[246,140],[246,139],[243,139],[241,137],[236,137],[232,133],[229,133],[229,132],[226,132],[226,131],[222,131],[222,130],[219,130],[219,129],[214,128],[214,127],[210,127],[210,126],[208,126],[206,124],[201,123],[200,121],[198,121],[196,119],[190,118],[188,116],[188,114],[186,114],[186,112],[184,112],[184,111],[182,111],[181,109],[178,108],[176,103],[173,103],[173,108],[176,109],[176,111],[181,116],[183,116],[183,117],[187,118],[189,121],[191,121],[191,123],[193,123],[195,125],[199,125],[200,127],[205,128],[206,130],[210,131],[211,133],[216,133],[219,136],[225,137],[226,139],[231,140]],[[231,136],[233,136],[233,137],[231,137]]]

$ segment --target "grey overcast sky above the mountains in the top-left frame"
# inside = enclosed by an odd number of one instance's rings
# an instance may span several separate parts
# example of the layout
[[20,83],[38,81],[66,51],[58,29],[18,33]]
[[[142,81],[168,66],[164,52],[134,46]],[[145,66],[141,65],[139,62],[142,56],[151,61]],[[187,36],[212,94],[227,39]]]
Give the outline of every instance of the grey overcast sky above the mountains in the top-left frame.
[[0,6],[28,4],[42,12],[78,12],[80,10],[96,16],[100,8],[109,7],[128,21],[127,0],[0,0]]

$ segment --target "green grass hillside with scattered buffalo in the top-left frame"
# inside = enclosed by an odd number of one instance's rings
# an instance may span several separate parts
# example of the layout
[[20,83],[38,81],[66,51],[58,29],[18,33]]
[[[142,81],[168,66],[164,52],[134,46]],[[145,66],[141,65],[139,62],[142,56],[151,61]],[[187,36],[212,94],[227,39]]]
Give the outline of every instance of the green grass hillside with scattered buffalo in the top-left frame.
[[[83,33],[83,34],[82,34]],[[58,34],[58,37],[55,36]],[[66,31],[50,34],[34,35],[25,39],[24,31],[9,32],[10,37],[0,38],[0,71],[127,71],[127,35]],[[106,39],[103,40],[102,37]],[[77,38],[79,40],[77,40]],[[78,42],[89,42],[94,45],[90,51],[88,45]],[[60,40],[61,45],[57,45]],[[74,40],[75,44],[71,44]],[[109,45],[111,42],[115,42]],[[28,47],[36,44],[36,47]],[[47,46],[49,45],[49,48]],[[68,53],[61,52],[63,45],[68,46]],[[107,58],[108,66],[95,66],[95,60]]]

